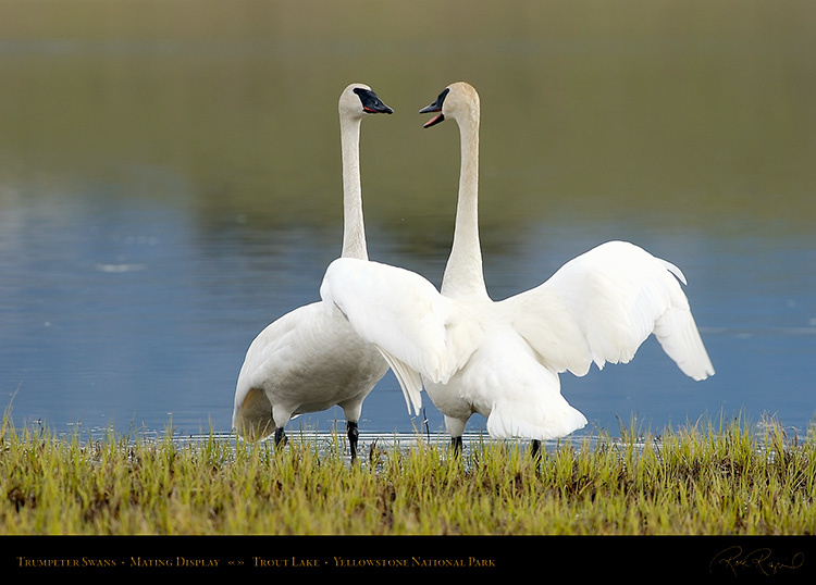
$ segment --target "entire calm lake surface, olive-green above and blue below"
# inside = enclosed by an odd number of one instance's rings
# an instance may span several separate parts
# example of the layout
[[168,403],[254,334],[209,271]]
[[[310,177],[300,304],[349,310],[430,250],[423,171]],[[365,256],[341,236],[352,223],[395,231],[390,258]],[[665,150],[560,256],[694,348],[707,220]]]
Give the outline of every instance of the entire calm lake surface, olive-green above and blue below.
[[[608,239],[689,281],[716,376],[684,377],[654,338],[632,363],[565,374],[582,433],[739,414],[807,432],[815,4],[223,4],[0,2],[0,402],[16,425],[230,432],[249,343],[317,300],[339,252],[350,82],[396,111],[363,122],[369,253],[438,284],[458,133],[417,112],[467,79],[493,298]],[[426,423],[388,374],[361,428],[441,432],[424,406]]]

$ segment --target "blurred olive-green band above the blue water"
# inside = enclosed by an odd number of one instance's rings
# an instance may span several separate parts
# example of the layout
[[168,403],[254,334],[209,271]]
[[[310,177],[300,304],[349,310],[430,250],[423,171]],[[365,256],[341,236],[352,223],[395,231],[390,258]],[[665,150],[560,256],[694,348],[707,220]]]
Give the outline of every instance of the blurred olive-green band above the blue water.
[[487,238],[570,213],[721,231],[745,216],[809,229],[816,211],[813,2],[2,0],[0,13],[7,185],[95,177],[148,197],[152,170],[190,185],[183,204],[203,222],[335,225],[336,98],[363,82],[396,110],[363,128],[367,220],[416,217],[405,237],[421,238],[450,228],[458,136],[423,130],[417,111],[466,79],[482,97]]

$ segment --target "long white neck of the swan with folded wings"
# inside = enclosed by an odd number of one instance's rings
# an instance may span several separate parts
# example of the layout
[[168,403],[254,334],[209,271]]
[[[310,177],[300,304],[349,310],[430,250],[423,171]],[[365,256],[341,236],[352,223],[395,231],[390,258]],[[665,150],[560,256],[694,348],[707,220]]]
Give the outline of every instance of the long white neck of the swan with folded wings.
[[341,116],[343,154],[343,252],[344,258],[368,260],[360,187],[360,122]]

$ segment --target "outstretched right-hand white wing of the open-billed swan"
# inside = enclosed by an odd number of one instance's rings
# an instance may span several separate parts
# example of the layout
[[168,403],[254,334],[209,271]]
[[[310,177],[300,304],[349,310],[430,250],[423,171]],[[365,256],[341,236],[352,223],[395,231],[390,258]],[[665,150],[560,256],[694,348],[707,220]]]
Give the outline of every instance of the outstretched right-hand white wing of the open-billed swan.
[[504,301],[514,328],[555,371],[584,375],[592,363],[626,363],[651,335],[694,379],[714,374],[682,272],[625,241],[567,262],[544,284]]

